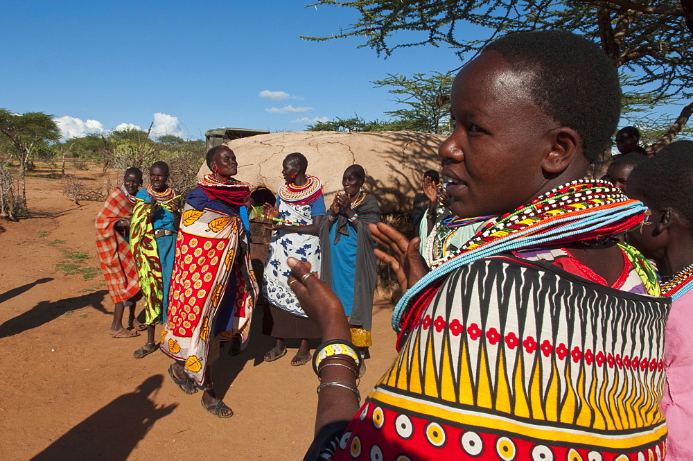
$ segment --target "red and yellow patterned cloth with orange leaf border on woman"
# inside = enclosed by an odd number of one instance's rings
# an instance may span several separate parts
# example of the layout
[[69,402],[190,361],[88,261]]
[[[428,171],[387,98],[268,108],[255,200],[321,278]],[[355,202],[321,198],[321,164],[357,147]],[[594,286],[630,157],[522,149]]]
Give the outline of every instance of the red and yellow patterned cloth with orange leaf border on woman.
[[243,347],[249,335],[257,284],[239,216],[185,205],[169,293],[161,350],[201,386],[215,338],[238,336]]

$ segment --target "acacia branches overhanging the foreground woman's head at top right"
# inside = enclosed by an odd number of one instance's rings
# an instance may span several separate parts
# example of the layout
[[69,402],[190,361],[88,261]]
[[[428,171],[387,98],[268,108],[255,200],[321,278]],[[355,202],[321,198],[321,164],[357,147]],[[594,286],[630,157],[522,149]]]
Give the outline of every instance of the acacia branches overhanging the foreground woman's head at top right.
[[[690,0],[683,3],[689,6]],[[310,6],[317,5],[356,9],[360,17],[338,34],[303,37],[307,40],[362,36],[367,41],[359,47],[371,47],[386,57],[410,46],[448,45],[467,60],[499,35],[557,28],[580,33],[602,46],[622,76],[627,76],[626,94],[647,92],[650,105],[693,96],[693,40],[685,10],[674,0],[649,4],[631,0],[319,0]],[[468,26],[485,28],[484,40],[466,40]],[[418,33],[419,40],[396,42],[400,32]],[[655,147],[671,141],[692,112],[693,104],[685,105]]]

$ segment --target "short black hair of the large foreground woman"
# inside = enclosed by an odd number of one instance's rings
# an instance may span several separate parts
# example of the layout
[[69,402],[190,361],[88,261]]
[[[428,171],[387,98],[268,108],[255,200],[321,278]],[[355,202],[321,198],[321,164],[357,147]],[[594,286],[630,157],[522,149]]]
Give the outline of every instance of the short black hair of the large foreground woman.
[[511,67],[534,73],[529,89],[536,105],[577,131],[590,162],[611,144],[621,112],[621,87],[613,61],[593,42],[566,31],[518,32],[484,48]]

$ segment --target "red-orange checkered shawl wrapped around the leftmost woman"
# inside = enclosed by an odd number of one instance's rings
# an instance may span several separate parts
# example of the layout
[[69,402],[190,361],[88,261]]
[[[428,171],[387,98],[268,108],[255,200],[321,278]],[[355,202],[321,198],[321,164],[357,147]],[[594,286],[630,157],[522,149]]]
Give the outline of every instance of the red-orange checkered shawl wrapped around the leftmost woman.
[[111,300],[123,302],[139,292],[137,266],[130,245],[119,232],[116,222],[132,216],[132,202],[123,189],[113,189],[96,216],[96,252]]

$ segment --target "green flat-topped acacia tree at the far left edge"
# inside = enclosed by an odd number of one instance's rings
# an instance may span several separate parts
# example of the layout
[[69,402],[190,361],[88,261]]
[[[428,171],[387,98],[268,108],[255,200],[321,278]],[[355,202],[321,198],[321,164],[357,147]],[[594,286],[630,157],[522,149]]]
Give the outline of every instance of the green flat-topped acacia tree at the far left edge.
[[44,112],[26,112],[25,114],[13,114],[5,109],[0,109],[0,134],[15,148],[15,155],[19,160],[19,200],[15,205],[26,208],[26,165],[35,150],[44,146],[48,141],[58,141],[60,130],[53,121],[52,115]]

